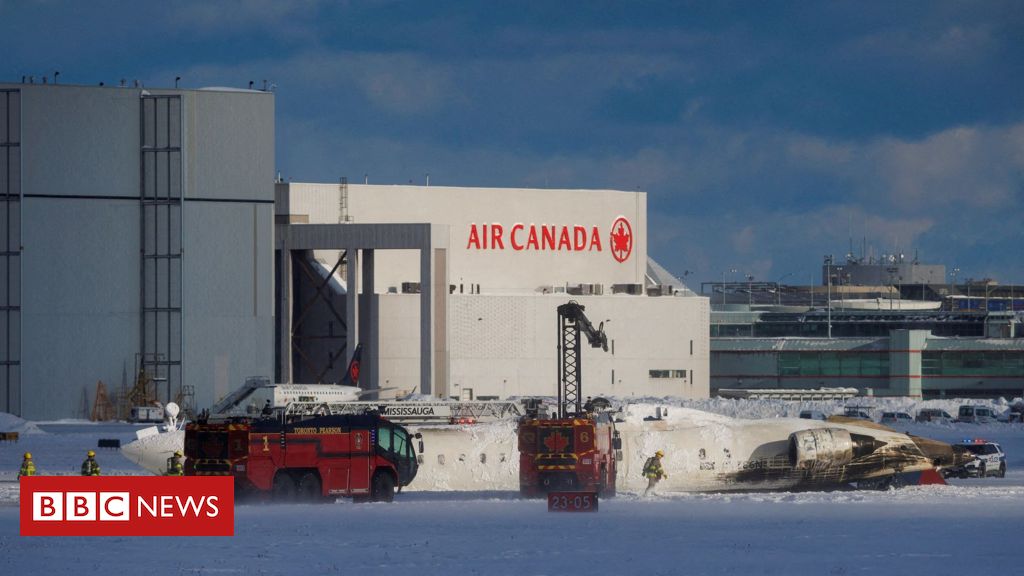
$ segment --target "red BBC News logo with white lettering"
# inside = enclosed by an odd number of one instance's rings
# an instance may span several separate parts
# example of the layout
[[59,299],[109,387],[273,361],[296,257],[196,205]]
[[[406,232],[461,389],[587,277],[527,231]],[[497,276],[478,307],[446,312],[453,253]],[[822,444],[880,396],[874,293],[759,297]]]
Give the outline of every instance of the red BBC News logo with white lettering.
[[231,477],[25,477],[22,536],[233,536]]

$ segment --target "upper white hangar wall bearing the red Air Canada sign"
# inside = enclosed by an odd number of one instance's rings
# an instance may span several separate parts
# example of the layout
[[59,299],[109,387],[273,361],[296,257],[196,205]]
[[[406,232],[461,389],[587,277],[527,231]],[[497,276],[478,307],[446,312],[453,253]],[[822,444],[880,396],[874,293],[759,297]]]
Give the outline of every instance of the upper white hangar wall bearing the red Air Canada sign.
[[[339,184],[278,184],[283,213],[308,223],[340,221]],[[348,217],[357,223],[431,222],[452,229],[452,284],[479,285],[483,293],[524,293],[543,286],[642,284],[647,265],[647,195],[612,190],[492,189],[416,186],[347,186]],[[632,231],[629,256],[612,255],[612,224],[624,216]],[[495,224],[499,228],[496,229]],[[518,224],[518,227],[517,227]],[[486,229],[484,229],[486,227]],[[521,228],[520,228],[521,227]],[[578,244],[577,228],[583,231]],[[550,249],[544,229],[555,240]],[[474,235],[475,230],[475,237]],[[530,240],[536,233],[536,248]],[[571,249],[562,244],[567,233]],[[494,238],[500,239],[495,245]],[[577,250],[582,246],[582,250]],[[520,249],[516,249],[516,248]],[[327,261],[336,252],[318,252]],[[419,255],[379,253],[375,291],[419,281]]]

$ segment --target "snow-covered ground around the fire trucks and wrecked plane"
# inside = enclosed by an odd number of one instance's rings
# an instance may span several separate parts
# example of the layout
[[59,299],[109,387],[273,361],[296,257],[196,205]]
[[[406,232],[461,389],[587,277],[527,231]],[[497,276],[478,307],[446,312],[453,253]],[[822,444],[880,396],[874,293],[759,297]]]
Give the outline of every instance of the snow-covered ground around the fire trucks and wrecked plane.
[[[835,403],[650,402],[735,417],[838,411]],[[878,401],[881,412],[945,405]],[[895,406],[899,404],[899,406]],[[892,407],[891,407],[892,406]],[[670,408],[671,409],[671,408]],[[878,414],[876,414],[878,416]],[[16,469],[32,451],[40,472],[74,475],[99,438],[138,426],[27,423],[0,414],[0,574],[961,574],[1024,571],[1024,425],[913,424],[909,431],[1002,444],[1005,479],[887,492],[633,493],[597,513],[548,512],[508,491],[399,494],[390,504],[242,505],[232,538],[22,538]],[[145,474],[97,450],[104,474]],[[419,481],[419,480],[418,480]]]

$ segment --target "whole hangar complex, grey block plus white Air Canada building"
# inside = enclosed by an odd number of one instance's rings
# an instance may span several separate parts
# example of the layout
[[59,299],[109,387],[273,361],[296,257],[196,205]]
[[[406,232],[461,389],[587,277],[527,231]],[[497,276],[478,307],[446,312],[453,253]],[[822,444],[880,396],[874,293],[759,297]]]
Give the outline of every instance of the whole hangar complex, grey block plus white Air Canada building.
[[273,134],[272,92],[0,84],[0,411],[88,416],[138,372],[202,409],[362,340],[365,387],[553,396],[569,299],[611,342],[585,395],[708,396],[708,299],[648,259],[645,194],[275,184]]

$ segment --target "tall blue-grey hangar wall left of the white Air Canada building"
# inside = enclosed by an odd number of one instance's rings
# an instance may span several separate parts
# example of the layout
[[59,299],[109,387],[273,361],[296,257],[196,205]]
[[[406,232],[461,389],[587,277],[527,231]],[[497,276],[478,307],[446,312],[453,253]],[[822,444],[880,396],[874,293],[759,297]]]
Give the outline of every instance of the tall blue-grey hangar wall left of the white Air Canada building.
[[[180,370],[178,385],[195,386],[199,407],[247,376],[272,374],[273,95],[0,89],[19,97],[23,195],[19,389],[16,404],[0,409],[33,419],[81,417],[97,381],[112,395],[133,383],[142,339],[143,95],[178,96],[181,110],[168,122],[180,133],[180,161],[161,164],[171,179],[157,190],[176,187],[184,200],[180,217],[161,216],[173,230],[156,241],[159,250],[167,252],[169,241],[181,254],[180,272],[173,258],[158,264],[161,288],[148,304],[180,306],[180,323],[157,323],[154,338],[180,356],[172,367]],[[153,218],[147,225],[154,229]]]

